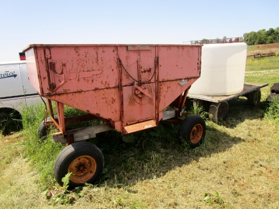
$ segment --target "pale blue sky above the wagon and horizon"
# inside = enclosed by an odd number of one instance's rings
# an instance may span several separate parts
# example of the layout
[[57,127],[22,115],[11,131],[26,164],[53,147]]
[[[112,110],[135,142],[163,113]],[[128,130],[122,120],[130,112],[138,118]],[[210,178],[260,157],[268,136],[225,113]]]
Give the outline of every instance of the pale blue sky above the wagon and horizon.
[[0,7],[0,62],[29,44],[182,44],[279,27],[279,1],[13,1]]

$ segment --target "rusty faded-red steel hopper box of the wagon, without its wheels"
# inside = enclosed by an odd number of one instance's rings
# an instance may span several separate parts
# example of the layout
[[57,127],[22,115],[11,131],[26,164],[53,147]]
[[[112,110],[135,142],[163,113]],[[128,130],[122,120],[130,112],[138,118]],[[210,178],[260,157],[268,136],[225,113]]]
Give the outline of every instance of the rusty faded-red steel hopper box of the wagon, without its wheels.
[[148,128],[145,121],[158,125],[200,76],[201,45],[30,45],[24,52],[40,95],[109,120],[122,134]]

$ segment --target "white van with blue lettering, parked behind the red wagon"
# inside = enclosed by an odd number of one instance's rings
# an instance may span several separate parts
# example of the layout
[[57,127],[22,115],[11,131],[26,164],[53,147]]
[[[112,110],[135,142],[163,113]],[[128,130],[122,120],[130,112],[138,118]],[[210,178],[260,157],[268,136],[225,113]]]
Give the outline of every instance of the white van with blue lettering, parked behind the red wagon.
[[39,102],[42,99],[29,83],[26,62],[0,62],[0,133],[20,128],[22,108]]

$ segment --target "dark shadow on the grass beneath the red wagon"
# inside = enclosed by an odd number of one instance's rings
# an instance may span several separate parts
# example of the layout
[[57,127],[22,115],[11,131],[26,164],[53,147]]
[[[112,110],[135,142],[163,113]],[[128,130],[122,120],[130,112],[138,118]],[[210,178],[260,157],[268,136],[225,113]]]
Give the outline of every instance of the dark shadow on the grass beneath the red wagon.
[[91,142],[105,158],[105,170],[99,186],[127,187],[138,181],[159,178],[168,171],[225,152],[242,138],[230,136],[214,127],[208,127],[204,143],[195,149],[182,144],[177,125],[159,126],[134,134],[133,144],[124,143],[121,134],[109,131],[98,134]]

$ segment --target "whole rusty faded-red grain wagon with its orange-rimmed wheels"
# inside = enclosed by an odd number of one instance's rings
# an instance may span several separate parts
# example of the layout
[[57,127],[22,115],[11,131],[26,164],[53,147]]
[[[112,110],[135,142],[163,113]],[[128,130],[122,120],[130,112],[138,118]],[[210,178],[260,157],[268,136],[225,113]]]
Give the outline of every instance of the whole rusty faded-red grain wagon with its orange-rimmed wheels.
[[[201,117],[180,117],[188,90],[200,77],[201,45],[29,45],[23,51],[30,83],[48,100],[51,122],[45,119],[41,133],[54,123],[59,129],[52,134],[54,141],[65,140],[68,145],[54,165],[60,185],[68,172],[72,172],[69,188],[100,177],[103,155],[84,142],[98,132],[114,128],[125,135],[159,123],[176,123],[192,147],[204,138]],[[66,118],[64,105],[88,115]],[[65,128],[69,121],[94,118],[105,123]]]

